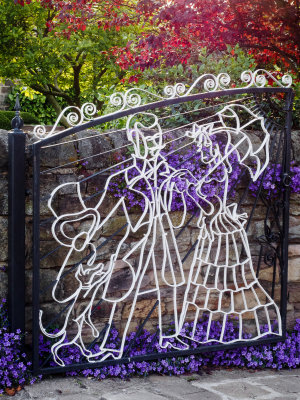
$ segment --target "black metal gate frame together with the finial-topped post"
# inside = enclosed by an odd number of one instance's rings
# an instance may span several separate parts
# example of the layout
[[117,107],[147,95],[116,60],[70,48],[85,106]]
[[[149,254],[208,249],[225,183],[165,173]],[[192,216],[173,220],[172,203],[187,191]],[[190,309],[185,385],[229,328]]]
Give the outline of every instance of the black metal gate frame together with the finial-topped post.
[[[71,134],[83,131],[87,128],[98,126],[102,123],[110,122],[135,113],[163,108],[166,106],[187,103],[195,100],[207,100],[216,97],[224,97],[237,94],[286,94],[285,106],[285,135],[284,135],[284,163],[283,163],[283,240],[281,254],[281,301],[280,312],[282,318],[282,336],[275,338],[264,338],[249,340],[247,342],[235,342],[231,344],[215,344],[209,346],[200,345],[197,349],[176,350],[168,353],[148,354],[134,357],[123,357],[117,360],[106,360],[95,363],[81,363],[69,366],[40,368],[39,366],[39,287],[40,287],[40,149],[43,145],[62,139]],[[287,308],[287,272],[288,272],[288,233],[289,233],[289,198],[290,198],[290,148],[291,148],[291,124],[292,124],[292,105],[294,92],[291,88],[280,87],[252,87],[226,89],[220,91],[199,93],[182,97],[161,100],[154,103],[132,107],[117,111],[108,115],[97,117],[88,122],[67,128],[53,136],[46,137],[31,145],[33,160],[33,265],[32,265],[32,349],[33,349],[33,373],[50,374],[61,373],[71,370],[82,370],[85,368],[96,368],[99,366],[109,366],[124,364],[132,361],[145,361],[168,357],[187,356],[203,352],[218,350],[230,350],[237,347],[248,347],[253,345],[276,343],[286,337],[286,308]],[[25,134],[22,131],[22,121],[20,118],[20,105],[16,103],[16,117],[13,120],[14,132],[10,133],[9,138],[9,319],[11,328],[25,331]],[[14,125],[15,121],[15,125]],[[21,171],[21,173],[20,173]],[[16,279],[17,278],[17,279]]]

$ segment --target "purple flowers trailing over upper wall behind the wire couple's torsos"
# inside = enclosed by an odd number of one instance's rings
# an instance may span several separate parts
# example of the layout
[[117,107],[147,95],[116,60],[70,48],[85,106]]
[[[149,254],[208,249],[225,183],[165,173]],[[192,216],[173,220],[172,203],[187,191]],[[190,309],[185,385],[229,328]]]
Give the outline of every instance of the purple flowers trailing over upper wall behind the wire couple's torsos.
[[[214,141],[217,142],[220,150],[224,152],[225,148],[224,143],[222,143],[222,141],[220,140],[217,141],[216,138],[214,138]],[[162,156],[166,158],[170,167],[173,167],[175,169],[177,168],[187,169],[193,174],[193,176],[198,181],[201,180],[201,178],[203,178],[205,175],[207,175],[209,167],[208,165],[203,166],[203,162],[201,161],[201,154],[197,152],[196,145],[189,146],[188,150],[185,150],[184,153],[176,153],[176,151],[173,152],[174,148],[175,146],[170,146],[168,150],[164,149],[162,151]],[[119,161],[122,159],[125,160],[125,158],[126,158],[125,156],[120,156]],[[243,176],[243,167],[239,163],[238,155],[236,152],[233,152],[229,156],[228,161],[231,166],[231,172],[229,174],[229,185],[226,188],[226,190],[229,196],[234,196],[236,193],[236,188],[238,187],[237,184],[241,181]],[[137,167],[140,169],[142,168],[141,161],[137,161]],[[113,172],[118,172],[124,170],[125,168],[126,165],[121,164],[118,167],[116,167],[113,170]],[[224,180],[222,179],[222,175],[224,174],[223,169],[224,169],[223,165],[220,165],[218,168],[216,168],[210,174],[210,181],[205,183],[201,188],[202,194],[209,202],[213,202],[214,199],[216,198],[216,195],[223,198],[225,190]],[[131,169],[129,172],[129,178],[134,178],[135,176],[138,176],[138,174],[140,174],[138,169]],[[268,198],[277,196],[280,190],[282,189],[281,174],[282,174],[281,164],[270,164],[257,181],[250,183],[249,193],[252,196],[256,196],[259,188],[261,187],[264,194]],[[291,192],[300,193],[300,167],[292,164],[290,175],[291,175],[291,186],[290,186]],[[163,174],[158,173],[158,185],[162,183],[163,179],[164,179]],[[137,185],[137,189],[146,194],[146,196],[151,197],[150,193],[148,193],[149,189],[146,188],[146,186],[142,187],[142,183],[143,181],[140,181],[140,183]],[[181,182],[178,182],[178,184],[180,185]],[[124,181],[124,179],[122,179],[122,175],[119,175],[119,179],[114,179],[113,181],[111,181],[108,190],[113,197],[117,198],[124,197],[127,201],[127,206],[129,209],[134,209],[134,208],[143,209],[144,206],[143,200],[140,197],[135,196],[132,193],[132,191],[128,190],[126,182]],[[189,195],[184,194],[184,196],[187,209],[189,211],[192,211],[194,208],[194,202],[192,201]],[[182,205],[183,202],[181,194],[179,193],[177,195],[174,194],[171,210],[172,211],[181,210]]]

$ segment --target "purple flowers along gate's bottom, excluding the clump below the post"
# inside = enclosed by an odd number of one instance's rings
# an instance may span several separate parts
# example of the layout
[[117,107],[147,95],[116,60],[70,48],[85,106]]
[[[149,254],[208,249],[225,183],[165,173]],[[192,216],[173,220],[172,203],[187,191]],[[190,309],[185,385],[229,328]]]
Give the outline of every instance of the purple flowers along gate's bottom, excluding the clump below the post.
[[[199,321],[195,331],[195,338],[203,340],[206,335],[208,321],[203,319]],[[193,323],[186,323],[182,334],[193,330]],[[221,323],[212,321],[211,338],[217,338],[220,335]],[[261,329],[266,332],[268,327]],[[226,323],[224,338],[230,341],[238,336],[238,330],[234,322]],[[251,339],[250,334],[244,335],[245,339]],[[173,338],[170,340],[174,340]],[[185,339],[183,339],[184,341]],[[111,348],[116,348],[120,341],[118,331],[113,329],[110,333]],[[209,347],[214,344],[210,342],[205,346]],[[184,345],[183,345],[184,346]],[[197,348],[199,344],[192,342],[192,348]],[[40,336],[40,355],[42,360],[49,357],[50,341]],[[167,375],[181,375],[184,373],[199,372],[203,367],[246,367],[246,368],[296,368],[300,366],[300,319],[296,320],[295,327],[292,332],[287,334],[287,338],[283,342],[276,344],[257,345],[251,347],[239,347],[233,350],[222,350],[200,354],[193,354],[181,357],[168,357],[168,349],[159,346],[159,340],[155,333],[143,330],[139,335],[137,332],[131,332],[126,339],[125,352],[128,350],[128,356],[140,356],[143,354],[161,353],[165,357],[160,360],[147,361],[131,361],[127,364],[111,365],[97,368],[88,368],[83,371],[67,372],[67,375],[76,376],[83,375],[85,377],[94,377],[97,379],[105,379],[109,377],[119,377],[121,379],[129,378],[133,375],[148,375],[150,373],[159,373]],[[92,351],[97,351],[95,345]],[[66,346],[63,348],[61,358],[66,365],[71,365],[82,361],[80,350],[76,346]],[[53,361],[50,365],[55,366]]]

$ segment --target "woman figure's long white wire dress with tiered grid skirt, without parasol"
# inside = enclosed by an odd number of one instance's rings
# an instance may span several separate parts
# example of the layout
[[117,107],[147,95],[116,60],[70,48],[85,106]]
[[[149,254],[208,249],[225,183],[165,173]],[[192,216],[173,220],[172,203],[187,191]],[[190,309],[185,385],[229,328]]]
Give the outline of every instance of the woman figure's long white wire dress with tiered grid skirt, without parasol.
[[[206,137],[205,141],[210,142],[213,159],[219,149],[214,152],[210,139]],[[228,164],[223,162],[221,180],[225,188],[228,187],[229,172]],[[201,194],[201,187],[198,192]],[[201,195],[205,200],[206,196]],[[214,212],[211,216],[202,215],[198,221],[198,246],[187,282],[180,320],[181,335],[198,343],[247,340],[250,335],[252,339],[267,334],[280,335],[278,306],[254,271],[244,228],[247,214],[238,214],[236,203],[227,205],[227,189],[222,197],[215,196],[211,201]],[[185,329],[188,321],[193,322],[191,331]],[[199,321],[202,324],[198,324]],[[218,329],[212,321],[218,321]],[[227,335],[227,322],[237,326],[236,337]],[[262,325],[265,325],[264,329],[261,329]]]

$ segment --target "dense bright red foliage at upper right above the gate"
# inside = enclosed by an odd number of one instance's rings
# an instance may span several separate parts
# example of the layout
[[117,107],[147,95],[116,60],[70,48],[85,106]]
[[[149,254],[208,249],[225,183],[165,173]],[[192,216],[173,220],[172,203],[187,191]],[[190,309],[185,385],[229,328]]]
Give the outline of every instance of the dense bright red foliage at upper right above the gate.
[[192,62],[201,47],[213,51],[239,44],[258,63],[297,70],[299,0],[143,0],[138,5],[153,32],[120,51],[123,67],[132,61],[142,69],[160,62]]

